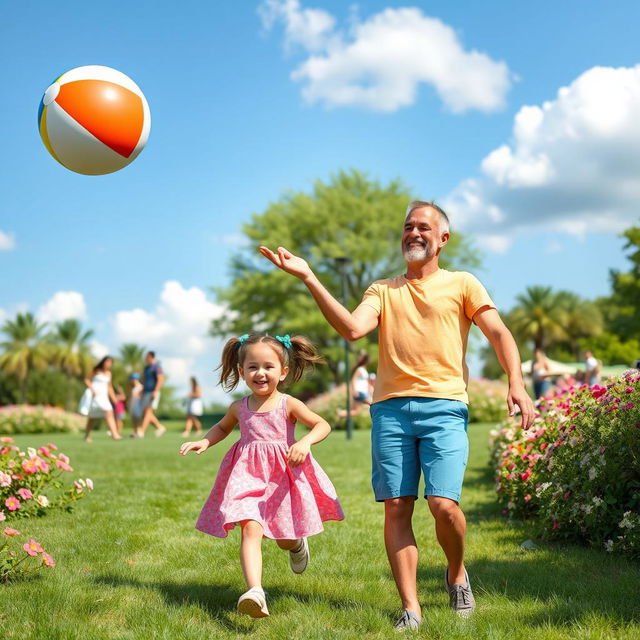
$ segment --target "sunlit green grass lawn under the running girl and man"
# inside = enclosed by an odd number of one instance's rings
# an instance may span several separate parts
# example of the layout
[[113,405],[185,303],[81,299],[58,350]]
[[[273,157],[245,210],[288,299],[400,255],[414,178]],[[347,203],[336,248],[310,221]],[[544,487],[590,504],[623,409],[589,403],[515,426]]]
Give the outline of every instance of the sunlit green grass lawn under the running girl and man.
[[[74,513],[12,524],[57,560],[55,569],[0,585],[0,636],[78,638],[390,638],[398,599],[382,542],[382,506],[369,485],[369,434],[345,442],[334,432],[315,455],[334,481],[346,520],[311,539],[301,576],[265,541],[264,586],[271,617],[235,613],[244,591],[238,531],[226,540],[194,530],[229,438],[202,456],[181,458],[179,425],[163,438],[112,442],[104,431],[20,436],[21,447],[53,440],[71,457],[74,477],[91,477],[92,495]],[[462,506],[467,566],[478,601],[458,620],[442,588],[443,555],[424,500],[415,529],[425,623],[411,637],[638,638],[640,567],[604,551],[540,544],[525,551],[527,525],[509,523],[495,503],[487,468],[489,425],[470,427]]]

